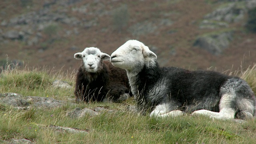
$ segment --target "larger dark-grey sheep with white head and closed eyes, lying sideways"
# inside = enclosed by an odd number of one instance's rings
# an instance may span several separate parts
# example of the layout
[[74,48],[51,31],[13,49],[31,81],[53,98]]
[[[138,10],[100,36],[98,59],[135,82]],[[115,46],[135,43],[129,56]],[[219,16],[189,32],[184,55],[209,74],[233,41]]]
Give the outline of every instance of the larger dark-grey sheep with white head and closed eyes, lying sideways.
[[110,62],[126,70],[139,110],[150,116],[206,115],[215,119],[255,116],[256,98],[246,81],[215,71],[160,68],[156,54],[137,40],[128,40]]

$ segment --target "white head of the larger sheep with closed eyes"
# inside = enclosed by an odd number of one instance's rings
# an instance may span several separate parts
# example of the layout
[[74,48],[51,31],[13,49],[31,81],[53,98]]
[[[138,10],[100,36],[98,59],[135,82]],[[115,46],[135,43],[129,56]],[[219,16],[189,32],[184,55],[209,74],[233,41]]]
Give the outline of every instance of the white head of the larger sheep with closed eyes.
[[146,62],[156,59],[154,52],[138,40],[128,40],[111,54],[110,62],[113,66],[126,70],[143,68]]

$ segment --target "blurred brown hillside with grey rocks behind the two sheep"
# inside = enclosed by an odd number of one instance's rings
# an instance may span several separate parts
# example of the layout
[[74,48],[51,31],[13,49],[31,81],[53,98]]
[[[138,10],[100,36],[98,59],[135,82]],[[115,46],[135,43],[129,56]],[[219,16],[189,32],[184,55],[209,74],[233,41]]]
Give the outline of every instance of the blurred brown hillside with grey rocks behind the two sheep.
[[146,44],[160,66],[219,72],[256,62],[256,0],[1,0],[0,65],[72,71],[85,47]]

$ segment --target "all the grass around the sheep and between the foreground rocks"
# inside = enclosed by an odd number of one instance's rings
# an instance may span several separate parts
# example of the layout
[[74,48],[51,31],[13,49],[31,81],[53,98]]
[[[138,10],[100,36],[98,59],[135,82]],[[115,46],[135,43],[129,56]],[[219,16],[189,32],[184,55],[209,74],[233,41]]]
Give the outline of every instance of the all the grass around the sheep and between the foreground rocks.
[[[241,76],[256,92],[256,65],[230,74]],[[74,98],[73,90],[51,87],[54,80],[65,80],[74,86],[74,74],[44,68],[6,69],[0,74],[0,92],[15,92],[24,96],[49,95],[57,100]],[[237,123],[213,120],[204,116],[150,118],[126,110],[132,100],[123,103],[90,103],[64,105],[59,108],[16,110],[0,105],[0,143],[12,139],[28,139],[38,144],[253,144],[256,139],[256,120]],[[114,110],[96,116],[70,118],[66,113],[80,108],[104,106]],[[87,130],[89,133],[55,131],[49,125]]]

